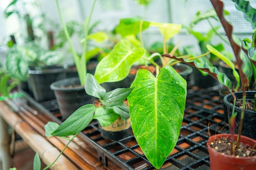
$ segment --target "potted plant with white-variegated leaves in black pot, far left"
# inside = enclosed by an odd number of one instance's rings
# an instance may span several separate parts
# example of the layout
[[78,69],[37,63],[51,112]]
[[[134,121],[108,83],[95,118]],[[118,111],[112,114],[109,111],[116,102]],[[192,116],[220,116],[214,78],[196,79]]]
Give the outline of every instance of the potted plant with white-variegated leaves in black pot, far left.
[[24,46],[14,44],[6,54],[6,69],[11,77],[28,82],[37,101],[52,100],[50,84],[65,78],[65,69],[57,66],[62,57],[61,52],[47,51],[32,41]]

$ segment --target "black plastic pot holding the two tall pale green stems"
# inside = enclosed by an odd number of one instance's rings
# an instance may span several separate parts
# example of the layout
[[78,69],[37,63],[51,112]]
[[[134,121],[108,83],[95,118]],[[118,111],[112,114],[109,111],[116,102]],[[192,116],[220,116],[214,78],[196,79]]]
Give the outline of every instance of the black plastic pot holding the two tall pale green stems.
[[[73,87],[70,87],[73,86]],[[86,94],[79,77],[65,78],[51,84],[62,118],[67,119],[79,107],[92,103],[94,98]]]

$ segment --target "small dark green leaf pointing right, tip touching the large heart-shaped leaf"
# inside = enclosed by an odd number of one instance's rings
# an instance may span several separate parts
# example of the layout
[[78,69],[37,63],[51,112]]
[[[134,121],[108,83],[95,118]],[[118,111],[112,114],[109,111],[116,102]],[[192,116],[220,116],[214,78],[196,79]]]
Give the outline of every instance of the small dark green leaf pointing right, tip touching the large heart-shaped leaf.
[[132,92],[132,88],[118,88],[106,93],[102,98],[102,103],[105,106],[111,107],[119,105]]

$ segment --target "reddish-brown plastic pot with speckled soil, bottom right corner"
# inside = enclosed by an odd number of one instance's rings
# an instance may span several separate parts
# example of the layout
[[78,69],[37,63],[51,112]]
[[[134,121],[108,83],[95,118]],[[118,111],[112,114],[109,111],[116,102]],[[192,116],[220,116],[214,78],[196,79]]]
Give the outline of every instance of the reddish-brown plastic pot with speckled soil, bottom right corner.
[[[250,150],[256,141],[245,136],[240,136],[240,149],[236,151],[238,155],[229,155],[230,134],[219,134],[211,136],[207,141],[207,148],[210,158],[211,170],[255,170],[256,153],[255,149],[252,156]],[[237,135],[234,135],[236,141]],[[245,150],[243,150],[245,149]],[[225,154],[227,153],[227,154]]]

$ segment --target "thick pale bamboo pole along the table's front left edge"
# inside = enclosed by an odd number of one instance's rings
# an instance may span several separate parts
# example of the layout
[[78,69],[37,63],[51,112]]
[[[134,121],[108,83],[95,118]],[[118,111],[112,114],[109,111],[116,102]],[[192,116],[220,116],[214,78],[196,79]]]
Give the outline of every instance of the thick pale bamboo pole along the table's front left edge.
[[[38,151],[40,158],[46,165],[49,165],[59,155],[60,151],[49,143],[45,137],[38,134],[27,122],[22,120],[13,112],[3,101],[0,101],[0,116],[29,144],[34,150]],[[52,170],[76,170],[74,166],[64,155],[61,155],[56,163],[50,167]]]

